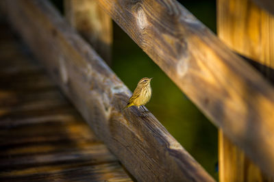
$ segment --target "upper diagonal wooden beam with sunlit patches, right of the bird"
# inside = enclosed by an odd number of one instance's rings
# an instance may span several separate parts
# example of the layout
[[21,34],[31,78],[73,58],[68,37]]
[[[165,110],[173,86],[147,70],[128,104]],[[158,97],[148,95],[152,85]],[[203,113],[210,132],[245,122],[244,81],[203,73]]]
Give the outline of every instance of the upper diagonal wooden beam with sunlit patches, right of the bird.
[[260,73],[177,1],[98,2],[234,144],[274,175],[274,89]]

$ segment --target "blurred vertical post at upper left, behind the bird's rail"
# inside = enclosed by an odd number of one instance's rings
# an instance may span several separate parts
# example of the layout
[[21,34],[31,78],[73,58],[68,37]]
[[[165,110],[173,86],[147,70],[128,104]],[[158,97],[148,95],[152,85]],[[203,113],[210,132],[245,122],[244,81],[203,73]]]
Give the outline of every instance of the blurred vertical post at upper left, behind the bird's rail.
[[97,0],[65,0],[65,16],[69,23],[92,45],[110,65],[112,55],[112,19]]

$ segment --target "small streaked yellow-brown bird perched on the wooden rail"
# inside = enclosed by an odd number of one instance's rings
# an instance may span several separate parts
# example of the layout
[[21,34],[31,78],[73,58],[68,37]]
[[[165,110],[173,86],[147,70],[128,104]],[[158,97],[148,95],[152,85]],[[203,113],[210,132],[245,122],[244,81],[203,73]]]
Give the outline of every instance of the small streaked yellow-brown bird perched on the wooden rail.
[[123,108],[131,107],[135,105],[140,108],[140,106],[145,105],[151,99],[151,86],[150,81],[152,78],[142,78],[137,84],[136,89],[134,90],[132,97],[129,98],[127,105]]

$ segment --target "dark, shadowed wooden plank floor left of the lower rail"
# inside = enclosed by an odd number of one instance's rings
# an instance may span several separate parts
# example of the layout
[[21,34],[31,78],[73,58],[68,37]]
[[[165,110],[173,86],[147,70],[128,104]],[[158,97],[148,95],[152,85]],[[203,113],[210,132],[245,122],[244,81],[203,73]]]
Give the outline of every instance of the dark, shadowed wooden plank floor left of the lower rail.
[[0,23],[0,181],[132,181]]

